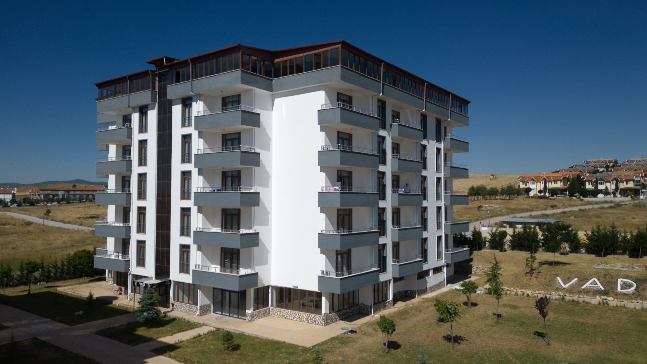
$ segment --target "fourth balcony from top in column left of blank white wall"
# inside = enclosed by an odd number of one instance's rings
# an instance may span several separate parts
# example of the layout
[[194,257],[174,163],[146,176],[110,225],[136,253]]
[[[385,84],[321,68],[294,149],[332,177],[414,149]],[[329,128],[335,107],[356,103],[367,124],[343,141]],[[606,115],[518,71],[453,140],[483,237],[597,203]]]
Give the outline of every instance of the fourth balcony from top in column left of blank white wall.
[[195,231],[193,231],[193,244],[245,249],[248,247],[258,247],[259,240],[256,229],[196,227]]

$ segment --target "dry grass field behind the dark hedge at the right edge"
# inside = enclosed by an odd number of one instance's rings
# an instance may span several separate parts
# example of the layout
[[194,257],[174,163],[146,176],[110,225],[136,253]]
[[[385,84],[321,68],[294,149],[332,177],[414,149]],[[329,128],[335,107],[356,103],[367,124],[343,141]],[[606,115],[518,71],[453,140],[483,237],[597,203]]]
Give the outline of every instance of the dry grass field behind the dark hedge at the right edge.
[[533,218],[556,219],[570,223],[580,231],[591,231],[595,225],[617,225],[620,231],[636,231],[647,225],[645,203],[643,201],[621,205],[613,203],[599,209],[563,211],[554,214],[540,214]]

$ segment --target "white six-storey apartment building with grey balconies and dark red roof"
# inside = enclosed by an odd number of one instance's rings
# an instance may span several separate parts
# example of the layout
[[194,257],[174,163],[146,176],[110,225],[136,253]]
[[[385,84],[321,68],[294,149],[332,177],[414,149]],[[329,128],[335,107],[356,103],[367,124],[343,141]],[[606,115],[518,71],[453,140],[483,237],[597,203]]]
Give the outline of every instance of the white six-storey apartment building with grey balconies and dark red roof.
[[345,41],[234,45],[99,82],[94,266],[172,310],[325,325],[442,288],[469,102]]

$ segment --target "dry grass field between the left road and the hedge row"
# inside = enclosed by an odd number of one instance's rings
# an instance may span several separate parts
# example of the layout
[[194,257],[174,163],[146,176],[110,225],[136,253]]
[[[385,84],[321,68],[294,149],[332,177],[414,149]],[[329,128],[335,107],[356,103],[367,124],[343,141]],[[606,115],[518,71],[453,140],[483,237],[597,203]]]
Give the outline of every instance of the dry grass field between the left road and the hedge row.
[[105,245],[105,238],[94,236],[94,231],[41,225],[0,213],[0,262],[16,264],[41,257],[52,261],[96,245]]

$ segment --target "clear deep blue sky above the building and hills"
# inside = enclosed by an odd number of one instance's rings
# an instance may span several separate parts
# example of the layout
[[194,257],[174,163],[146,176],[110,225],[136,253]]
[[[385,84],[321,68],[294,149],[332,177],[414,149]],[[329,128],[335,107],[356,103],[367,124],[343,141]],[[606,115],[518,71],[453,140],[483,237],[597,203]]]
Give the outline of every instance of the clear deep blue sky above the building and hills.
[[93,83],[242,43],[346,40],[467,98],[472,173],[647,156],[647,2],[12,2],[0,182],[96,181]]

